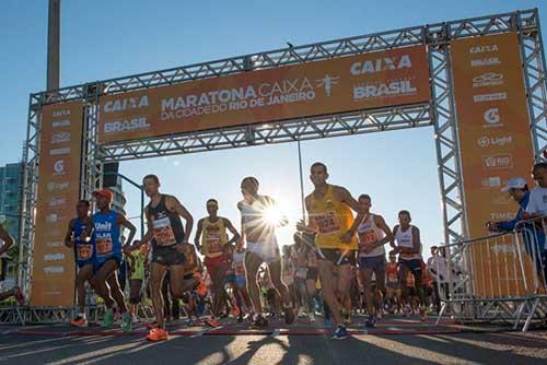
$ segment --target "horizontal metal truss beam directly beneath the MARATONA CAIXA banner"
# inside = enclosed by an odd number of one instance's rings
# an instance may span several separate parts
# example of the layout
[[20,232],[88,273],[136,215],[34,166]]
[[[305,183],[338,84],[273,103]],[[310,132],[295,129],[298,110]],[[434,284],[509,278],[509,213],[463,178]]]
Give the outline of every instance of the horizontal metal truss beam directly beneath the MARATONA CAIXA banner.
[[155,137],[100,148],[102,160],[124,161],[271,143],[295,142],[431,125],[429,104],[247,125]]

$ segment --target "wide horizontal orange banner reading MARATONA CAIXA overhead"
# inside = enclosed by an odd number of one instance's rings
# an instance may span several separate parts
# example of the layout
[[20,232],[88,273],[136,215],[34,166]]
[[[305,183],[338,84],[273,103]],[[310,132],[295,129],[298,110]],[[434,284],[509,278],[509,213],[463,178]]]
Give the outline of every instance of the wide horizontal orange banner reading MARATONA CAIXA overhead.
[[98,141],[109,143],[429,99],[426,46],[412,46],[103,96]]

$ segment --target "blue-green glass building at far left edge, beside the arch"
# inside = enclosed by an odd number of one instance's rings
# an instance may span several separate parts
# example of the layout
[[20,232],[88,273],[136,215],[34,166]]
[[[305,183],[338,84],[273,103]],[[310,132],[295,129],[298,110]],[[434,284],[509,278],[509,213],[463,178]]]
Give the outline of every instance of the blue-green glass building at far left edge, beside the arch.
[[5,229],[19,238],[21,228],[21,198],[23,192],[23,164],[0,167],[0,221]]

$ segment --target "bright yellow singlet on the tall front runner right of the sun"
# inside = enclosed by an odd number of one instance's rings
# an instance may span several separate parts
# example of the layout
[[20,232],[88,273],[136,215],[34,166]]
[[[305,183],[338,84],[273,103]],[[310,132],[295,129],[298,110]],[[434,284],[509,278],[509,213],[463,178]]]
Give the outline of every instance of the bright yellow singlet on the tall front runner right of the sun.
[[349,244],[341,242],[353,224],[351,209],[336,200],[333,195],[333,186],[327,186],[327,192],[323,198],[316,198],[312,193],[310,208],[310,221],[317,229],[315,245],[319,248],[357,249],[357,238],[352,237]]

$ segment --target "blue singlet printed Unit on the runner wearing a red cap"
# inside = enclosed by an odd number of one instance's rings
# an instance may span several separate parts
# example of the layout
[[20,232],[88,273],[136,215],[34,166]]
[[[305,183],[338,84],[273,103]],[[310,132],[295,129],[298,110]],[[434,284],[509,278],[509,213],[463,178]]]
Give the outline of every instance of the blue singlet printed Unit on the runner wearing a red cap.
[[95,250],[97,263],[103,263],[113,257],[121,260],[121,243],[119,240],[120,229],[116,224],[117,213],[93,214],[93,225],[95,227],[93,236],[95,237]]

